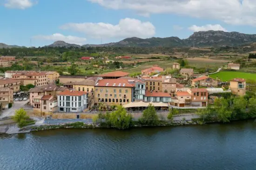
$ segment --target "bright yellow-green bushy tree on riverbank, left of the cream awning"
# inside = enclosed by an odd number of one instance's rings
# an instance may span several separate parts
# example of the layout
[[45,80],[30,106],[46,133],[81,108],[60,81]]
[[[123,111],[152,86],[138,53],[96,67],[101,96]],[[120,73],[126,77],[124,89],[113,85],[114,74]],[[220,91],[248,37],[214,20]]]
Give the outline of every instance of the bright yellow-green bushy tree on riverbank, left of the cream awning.
[[110,113],[109,121],[112,127],[128,129],[132,123],[132,115],[127,114],[124,107],[118,106],[116,111]]

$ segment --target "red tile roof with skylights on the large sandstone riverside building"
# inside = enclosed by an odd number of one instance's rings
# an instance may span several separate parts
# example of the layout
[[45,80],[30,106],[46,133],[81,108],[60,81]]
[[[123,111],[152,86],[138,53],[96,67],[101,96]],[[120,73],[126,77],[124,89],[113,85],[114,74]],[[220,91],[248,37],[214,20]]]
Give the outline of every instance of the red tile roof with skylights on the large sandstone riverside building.
[[95,87],[125,87],[125,88],[132,88],[135,86],[135,80],[131,79],[102,79],[99,80],[96,84]]

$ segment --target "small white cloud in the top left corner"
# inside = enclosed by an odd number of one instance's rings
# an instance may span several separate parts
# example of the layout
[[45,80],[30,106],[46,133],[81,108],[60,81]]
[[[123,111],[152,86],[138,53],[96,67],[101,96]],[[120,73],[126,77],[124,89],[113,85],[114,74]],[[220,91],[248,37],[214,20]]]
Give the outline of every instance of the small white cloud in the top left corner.
[[7,8],[26,9],[33,6],[36,2],[33,0],[6,0],[4,4]]

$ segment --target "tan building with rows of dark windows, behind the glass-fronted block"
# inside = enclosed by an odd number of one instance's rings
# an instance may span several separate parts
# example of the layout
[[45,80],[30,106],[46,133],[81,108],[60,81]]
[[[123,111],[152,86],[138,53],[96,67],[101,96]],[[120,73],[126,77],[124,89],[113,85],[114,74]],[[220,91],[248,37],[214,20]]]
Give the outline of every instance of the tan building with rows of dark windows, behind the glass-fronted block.
[[162,77],[144,78],[146,82],[146,90],[162,92]]

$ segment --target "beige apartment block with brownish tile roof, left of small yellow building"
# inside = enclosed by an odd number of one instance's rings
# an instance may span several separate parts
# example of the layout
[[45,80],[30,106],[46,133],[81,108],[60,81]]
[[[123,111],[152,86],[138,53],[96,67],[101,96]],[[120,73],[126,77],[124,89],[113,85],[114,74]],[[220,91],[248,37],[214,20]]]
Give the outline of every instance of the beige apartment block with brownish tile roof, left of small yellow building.
[[21,85],[26,86],[27,84],[33,84],[35,86],[47,85],[46,73],[40,72],[27,72],[27,73],[16,73],[12,75],[13,79],[21,80]]

